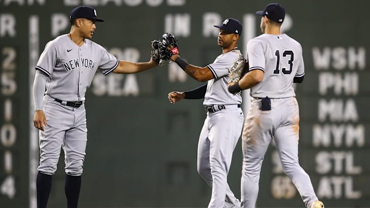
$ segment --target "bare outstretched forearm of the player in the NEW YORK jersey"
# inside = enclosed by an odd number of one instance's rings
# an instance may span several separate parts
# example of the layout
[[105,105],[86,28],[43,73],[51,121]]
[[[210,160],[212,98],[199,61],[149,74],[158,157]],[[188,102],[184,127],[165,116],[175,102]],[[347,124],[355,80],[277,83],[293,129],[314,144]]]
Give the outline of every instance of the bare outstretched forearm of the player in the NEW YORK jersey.
[[113,70],[115,73],[137,73],[158,66],[158,62],[152,58],[149,62],[135,63],[129,61],[119,61],[118,66]]

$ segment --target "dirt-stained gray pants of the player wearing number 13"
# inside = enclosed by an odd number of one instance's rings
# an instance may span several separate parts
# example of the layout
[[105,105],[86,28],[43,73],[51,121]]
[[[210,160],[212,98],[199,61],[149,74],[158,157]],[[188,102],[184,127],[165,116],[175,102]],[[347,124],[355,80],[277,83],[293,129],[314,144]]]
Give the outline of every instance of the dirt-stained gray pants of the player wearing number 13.
[[285,174],[297,187],[305,206],[311,207],[318,198],[298,161],[300,117],[297,100],[295,97],[271,99],[271,110],[262,111],[260,107],[261,100],[252,99],[243,129],[242,207],[255,207],[261,166],[272,138]]

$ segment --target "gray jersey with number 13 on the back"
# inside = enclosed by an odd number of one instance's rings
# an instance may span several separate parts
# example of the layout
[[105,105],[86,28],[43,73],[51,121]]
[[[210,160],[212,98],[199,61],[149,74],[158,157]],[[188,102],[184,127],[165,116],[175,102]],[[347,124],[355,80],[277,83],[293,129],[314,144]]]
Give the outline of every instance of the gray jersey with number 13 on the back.
[[264,70],[263,80],[251,88],[254,98],[295,96],[293,79],[304,74],[301,45],[287,34],[262,34],[248,43],[249,69]]

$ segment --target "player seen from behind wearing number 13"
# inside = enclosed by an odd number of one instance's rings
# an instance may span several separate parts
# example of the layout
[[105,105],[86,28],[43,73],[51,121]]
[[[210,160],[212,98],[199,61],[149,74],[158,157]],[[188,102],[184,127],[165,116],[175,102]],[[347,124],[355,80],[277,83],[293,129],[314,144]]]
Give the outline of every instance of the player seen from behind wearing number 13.
[[244,208],[254,208],[258,181],[266,150],[274,138],[284,172],[299,191],[305,206],[323,208],[313,191],[309,176],[298,161],[299,107],[295,99],[294,83],[304,77],[300,43],[280,33],[285,9],[280,4],[269,4],[262,15],[262,35],[247,44],[249,72],[237,83],[229,84],[229,91],[250,88],[251,107],[242,134],[243,171],[242,199]]

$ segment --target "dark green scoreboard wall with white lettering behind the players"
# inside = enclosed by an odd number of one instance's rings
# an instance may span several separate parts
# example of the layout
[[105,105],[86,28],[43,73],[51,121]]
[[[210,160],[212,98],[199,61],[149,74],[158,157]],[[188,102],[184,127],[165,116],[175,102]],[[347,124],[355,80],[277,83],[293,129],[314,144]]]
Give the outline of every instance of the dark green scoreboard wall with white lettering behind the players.
[[[225,18],[243,24],[238,47],[261,34],[269,1],[0,0],[0,207],[35,208],[39,162],[33,127],[34,66],[45,44],[69,32],[69,12],[97,9],[93,41],[120,60],[149,60],[163,32],[178,36],[181,57],[204,67],[221,53]],[[305,79],[295,86],[300,104],[300,163],[326,207],[370,207],[369,1],[288,1],[283,32],[303,47]],[[206,111],[202,100],[168,102],[170,91],[199,83],[176,64],[137,74],[99,71],[86,94],[88,142],[79,206],[206,207],[211,188],[197,173],[197,142]],[[247,115],[248,93],[243,110]],[[63,118],[61,118],[63,119]],[[228,176],[240,197],[239,140]],[[52,182],[49,207],[66,207],[64,155]],[[263,163],[257,207],[304,207],[285,176],[275,146]]]

